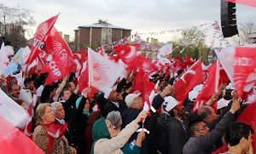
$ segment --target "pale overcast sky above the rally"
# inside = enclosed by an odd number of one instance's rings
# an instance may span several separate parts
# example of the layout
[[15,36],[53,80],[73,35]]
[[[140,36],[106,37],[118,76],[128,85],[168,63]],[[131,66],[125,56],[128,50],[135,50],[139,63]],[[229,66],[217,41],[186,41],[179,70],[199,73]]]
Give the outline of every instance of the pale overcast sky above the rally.
[[[31,9],[38,23],[61,13],[55,23],[58,31],[73,37],[78,26],[108,20],[115,26],[135,31],[176,30],[220,20],[220,0],[0,0],[6,6]],[[237,4],[238,23],[253,21],[256,8]],[[35,27],[36,27],[35,26]],[[171,34],[159,37],[172,39]]]

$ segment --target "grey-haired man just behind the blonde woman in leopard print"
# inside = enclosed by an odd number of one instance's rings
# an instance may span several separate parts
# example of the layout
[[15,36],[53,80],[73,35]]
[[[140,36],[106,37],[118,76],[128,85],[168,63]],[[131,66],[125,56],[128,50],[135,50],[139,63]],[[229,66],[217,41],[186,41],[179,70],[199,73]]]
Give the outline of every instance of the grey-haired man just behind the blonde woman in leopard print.
[[[53,102],[50,104],[50,106],[51,106],[52,111],[55,113],[55,123],[64,124],[65,123],[65,120],[64,120],[65,111],[63,109],[61,102]],[[72,139],[70,133],[71,132],[67,128],[64,135],[68,140],[68,145],[73,146],[73,139]]]

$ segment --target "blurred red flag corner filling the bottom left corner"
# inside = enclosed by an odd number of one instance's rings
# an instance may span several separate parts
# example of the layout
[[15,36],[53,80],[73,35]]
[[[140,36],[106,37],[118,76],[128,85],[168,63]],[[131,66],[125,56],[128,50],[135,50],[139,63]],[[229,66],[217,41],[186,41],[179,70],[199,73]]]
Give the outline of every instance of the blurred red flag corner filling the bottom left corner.
[[13,127],[2,117],[0,117],[0,123],[0,151],[11,154],[44,154],[44,151],[32,142],[32,140],[27,138],[18,128]]

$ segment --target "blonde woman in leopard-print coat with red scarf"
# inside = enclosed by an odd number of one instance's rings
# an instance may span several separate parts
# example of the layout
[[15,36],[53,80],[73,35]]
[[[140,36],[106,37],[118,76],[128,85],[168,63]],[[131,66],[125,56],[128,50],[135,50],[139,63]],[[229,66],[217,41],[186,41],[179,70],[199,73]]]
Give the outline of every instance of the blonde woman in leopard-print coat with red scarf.
[[55,122],[55,114],[49,103],[40,104],[36,110],[38,126],[35,128],[32,140],[46,154],[75,154],[73,147],[68,146],[66,137],[63,135],[67,124]]

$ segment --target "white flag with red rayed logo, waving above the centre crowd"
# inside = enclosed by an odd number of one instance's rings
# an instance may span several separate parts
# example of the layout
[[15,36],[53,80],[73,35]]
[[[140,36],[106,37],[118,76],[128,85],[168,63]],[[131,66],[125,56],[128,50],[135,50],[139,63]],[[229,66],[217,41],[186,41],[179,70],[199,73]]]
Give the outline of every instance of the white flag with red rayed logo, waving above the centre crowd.
[[88,69],[90,85],[102,92],[112,88],[124,71],[124,68],[119,67],[118,64],[96,53],[91,48],[88,48]]

